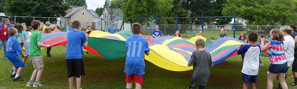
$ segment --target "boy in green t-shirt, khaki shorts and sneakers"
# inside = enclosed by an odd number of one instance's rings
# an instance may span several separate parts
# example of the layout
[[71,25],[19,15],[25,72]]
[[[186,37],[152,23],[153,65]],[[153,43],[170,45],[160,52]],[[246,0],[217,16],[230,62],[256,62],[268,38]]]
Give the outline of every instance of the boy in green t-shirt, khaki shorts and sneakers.
[[[38,32],[41,29],[40,20],[33,20],[31,22],[31,26],[35,30],[31,34],[29,55],[32,59],[32,65],[35,68],[35,70],[33,71],[31,79],[26,86],[33,85],[33,87],[40,87],[40,86],[44,86],[40,83],[40,78],[44,68],[40,47],[49,47],[49,45],[41,44],[41,34]],[[33,84],[33,80],[35,77],[36,77],[36,80]]]

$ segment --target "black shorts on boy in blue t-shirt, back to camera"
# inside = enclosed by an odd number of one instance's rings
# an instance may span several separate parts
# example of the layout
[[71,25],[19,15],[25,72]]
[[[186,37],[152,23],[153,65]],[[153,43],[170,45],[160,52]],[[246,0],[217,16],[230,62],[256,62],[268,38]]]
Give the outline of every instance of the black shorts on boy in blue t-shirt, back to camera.
[[80,75],[85,75],[85,68],[83,66],[83,59],[66,59],[68,75],[70,78],[72,76],[80,77]]

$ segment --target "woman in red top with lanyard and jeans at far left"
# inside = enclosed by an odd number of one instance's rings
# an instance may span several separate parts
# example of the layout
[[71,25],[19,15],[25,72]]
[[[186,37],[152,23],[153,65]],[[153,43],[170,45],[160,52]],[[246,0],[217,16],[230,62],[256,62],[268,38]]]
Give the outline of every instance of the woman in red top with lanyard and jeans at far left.
[[3,19],[2,22],[4,23],[0,23],[0,50],[1,47],[3,46],[3,50],[4,50],[4,58],[5,60],[7,60],[8,58],[6,57],[6,43],[7,43],[7,39],[10,37],[7,33],[8,28],[12,28],[13,25],[9,23],[9,19]]

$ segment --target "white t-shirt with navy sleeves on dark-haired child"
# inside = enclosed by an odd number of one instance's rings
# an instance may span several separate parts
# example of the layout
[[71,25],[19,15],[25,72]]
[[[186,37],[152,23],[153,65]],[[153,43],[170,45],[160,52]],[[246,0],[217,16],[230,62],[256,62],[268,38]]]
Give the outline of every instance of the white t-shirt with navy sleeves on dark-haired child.
[[257,75],[259,72],[260,45],[244,45],[237,50],[237,54],[244,54],[241,72],[247,75]]

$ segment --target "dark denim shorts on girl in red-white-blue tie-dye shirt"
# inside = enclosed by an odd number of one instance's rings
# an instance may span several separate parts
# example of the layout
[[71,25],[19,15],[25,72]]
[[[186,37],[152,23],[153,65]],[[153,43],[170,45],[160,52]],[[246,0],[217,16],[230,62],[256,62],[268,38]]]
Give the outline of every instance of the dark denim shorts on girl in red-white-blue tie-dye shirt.
[[278,73],[287,73],[288,69],[288,63],[283,63],[283,64],[270,64],[268,72],[272,74],[278,74]]

